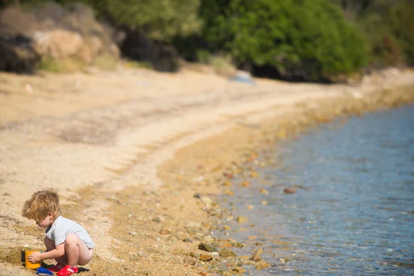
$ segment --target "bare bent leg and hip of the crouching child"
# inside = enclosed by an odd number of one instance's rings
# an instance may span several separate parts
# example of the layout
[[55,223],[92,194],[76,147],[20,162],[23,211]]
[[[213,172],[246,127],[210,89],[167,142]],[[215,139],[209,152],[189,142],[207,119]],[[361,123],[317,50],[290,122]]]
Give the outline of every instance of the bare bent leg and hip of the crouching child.
[[78,264],[84,266],[92,259],[92,249],[83,244],[83,241],[75,234],[66,236],[65,252],[70,266],[77,266]]

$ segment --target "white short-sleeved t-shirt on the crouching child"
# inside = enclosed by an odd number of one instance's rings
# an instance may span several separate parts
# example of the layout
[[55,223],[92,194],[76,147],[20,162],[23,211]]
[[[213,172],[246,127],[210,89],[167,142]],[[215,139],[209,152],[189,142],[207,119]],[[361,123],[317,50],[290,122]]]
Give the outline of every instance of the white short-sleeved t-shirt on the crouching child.
[[88,248],[94,248],[95,244],[92,241],[92,238],[86,232],[85,228],[77,224],[75,221],[66,219],[61,215],[53,221],[52,226],[46,228],[45,231],[46,237],[55,241],[55,246],[63,244],[66,241],[66,236],[69,234],[77,235]]

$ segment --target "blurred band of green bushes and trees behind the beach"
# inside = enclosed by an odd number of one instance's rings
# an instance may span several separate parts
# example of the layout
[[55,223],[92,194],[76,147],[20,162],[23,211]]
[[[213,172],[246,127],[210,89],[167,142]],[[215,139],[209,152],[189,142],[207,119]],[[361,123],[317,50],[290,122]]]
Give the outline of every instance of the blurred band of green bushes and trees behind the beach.
[[[0,0],[0,8],[42,1]],[[78,1],[141,39],[128,41],[174,46],[180,57],[216,67],[320,81],[414,65],[414,0]]]

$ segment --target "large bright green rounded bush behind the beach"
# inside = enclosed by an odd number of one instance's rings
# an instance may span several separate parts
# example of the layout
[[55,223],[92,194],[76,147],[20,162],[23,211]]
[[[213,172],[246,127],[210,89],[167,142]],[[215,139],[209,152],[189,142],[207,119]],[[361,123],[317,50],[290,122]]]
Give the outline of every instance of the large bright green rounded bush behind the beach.
[[[324,0],[233,0],[204,3],[204,35],[239,61],[273,66],[284,76],[319,79],[358,70],[364,40]],[[215,14],[219,15],[215,15]]]

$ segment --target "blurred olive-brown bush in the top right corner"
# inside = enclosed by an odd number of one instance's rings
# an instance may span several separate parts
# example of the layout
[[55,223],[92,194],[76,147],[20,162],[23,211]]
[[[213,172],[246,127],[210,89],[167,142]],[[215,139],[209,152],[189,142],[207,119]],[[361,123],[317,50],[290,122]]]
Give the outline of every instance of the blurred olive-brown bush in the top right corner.
[[368,41],[370,65],[414,65],[413,0],[331,0],[337,3]]

